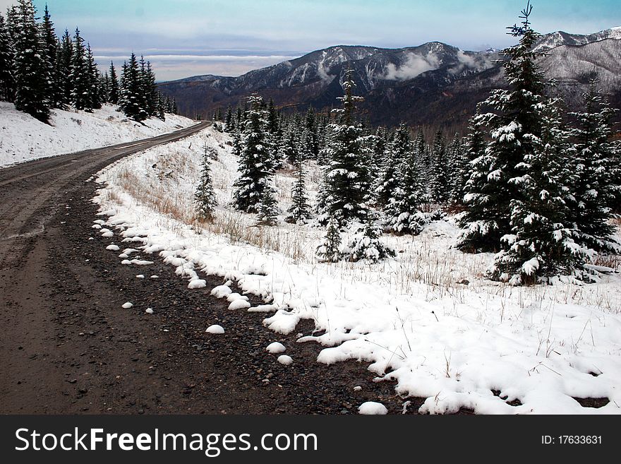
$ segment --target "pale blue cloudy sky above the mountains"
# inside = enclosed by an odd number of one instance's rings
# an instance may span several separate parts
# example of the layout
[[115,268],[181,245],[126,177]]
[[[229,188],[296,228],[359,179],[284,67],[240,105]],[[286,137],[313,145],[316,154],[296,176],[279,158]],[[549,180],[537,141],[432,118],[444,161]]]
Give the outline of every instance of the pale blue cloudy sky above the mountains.
[[[0,0],[5,11],[13,0]],[[505,28],[526,0],[34,0],[56,30],[80,28],[97,62],[133,51],[158,81],[251,69],[339,44],[413,47],[437,40],[464,50],[514,42]],[[621,26],[620,0],[533,0],[538,32],[588,34]]]

